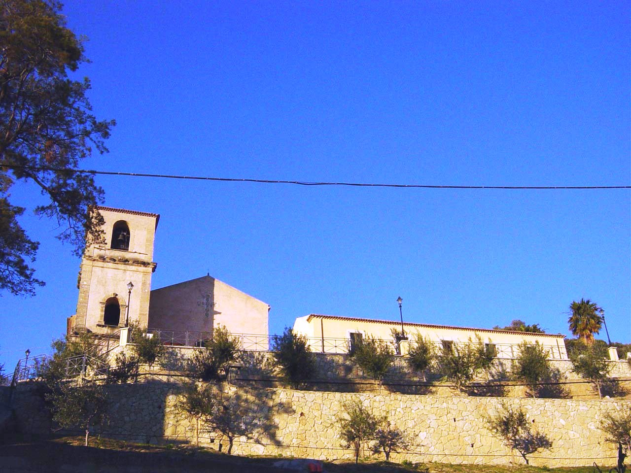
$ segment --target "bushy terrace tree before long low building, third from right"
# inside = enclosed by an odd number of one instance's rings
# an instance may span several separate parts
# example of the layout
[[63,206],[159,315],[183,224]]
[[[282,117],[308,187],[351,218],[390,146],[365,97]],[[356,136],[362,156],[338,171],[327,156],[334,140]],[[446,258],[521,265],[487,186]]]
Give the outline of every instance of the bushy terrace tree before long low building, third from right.
[[466,391],[481,371],[490,370],[497,350],[493,344],[484,344],[480,337],[470,337],[464,344],[443,343],[437,359],[439,374],[454,383],[457,390]]

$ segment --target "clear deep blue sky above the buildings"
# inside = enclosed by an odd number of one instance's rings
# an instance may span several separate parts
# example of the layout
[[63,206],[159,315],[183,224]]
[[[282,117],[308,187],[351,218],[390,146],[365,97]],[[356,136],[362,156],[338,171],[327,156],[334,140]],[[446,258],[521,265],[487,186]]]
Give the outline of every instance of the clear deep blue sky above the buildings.
[[[629,185],[626,2],[68,1],[110,153],[85,168],[431,185]],[[153,288],[207,271],[271,305],[569,334],[572,300],[631,341],[627,190],[296,187],[98,177],[161,214]],[[33,207],[37,190],[13,189]],[[0,297],[0,363],[44,353],[79,259],[52,221],[34,298]],[[606,339],[604,330],[601,337]]]

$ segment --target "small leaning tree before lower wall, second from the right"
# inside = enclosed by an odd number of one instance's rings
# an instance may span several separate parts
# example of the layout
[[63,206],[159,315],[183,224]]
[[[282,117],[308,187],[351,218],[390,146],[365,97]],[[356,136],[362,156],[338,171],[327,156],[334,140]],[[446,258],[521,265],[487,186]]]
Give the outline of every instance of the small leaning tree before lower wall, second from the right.
[[528,465],[526,455],[541,448],[552,447],[551,441],[545,435],[531,431],[526,412],[520,407],[512,409],[502,403],[500,411],[487,419],[490,431],[504,441],[504,445],[517,450]]

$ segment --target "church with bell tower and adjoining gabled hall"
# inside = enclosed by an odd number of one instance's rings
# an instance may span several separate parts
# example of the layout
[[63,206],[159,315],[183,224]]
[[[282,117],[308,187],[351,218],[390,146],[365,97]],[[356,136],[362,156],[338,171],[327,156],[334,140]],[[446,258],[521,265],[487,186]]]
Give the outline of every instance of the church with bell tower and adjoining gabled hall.
[[170,332],[212,332],[223,325],[233,334],[268,334],[269,305],[209,274],[151,290],[160,215],[96,209],[104,221],[104,240],[86,245],[69,334],[110,335],[129,324]]

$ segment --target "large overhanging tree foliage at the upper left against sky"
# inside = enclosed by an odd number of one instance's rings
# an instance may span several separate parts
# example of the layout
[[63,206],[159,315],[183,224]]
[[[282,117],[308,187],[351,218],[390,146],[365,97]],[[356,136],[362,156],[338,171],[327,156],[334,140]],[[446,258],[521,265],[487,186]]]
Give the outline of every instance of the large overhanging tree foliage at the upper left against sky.
[[0,290],[35,292],[38,243],[30,240],[18,217],[24,208],[9,202],[16,180],[32,182],[47,198],[35,213],[56,219],[57,236],[80,254],[86,238],[100,240],[100,216],[88,207],[103,200],[92,175],[69,172],[104,141],[114,121],[91,114],[90,81],[74,81],[86,59],[80,38],[66,27],[61,4],[53,0],[6,0],[0,7]]

